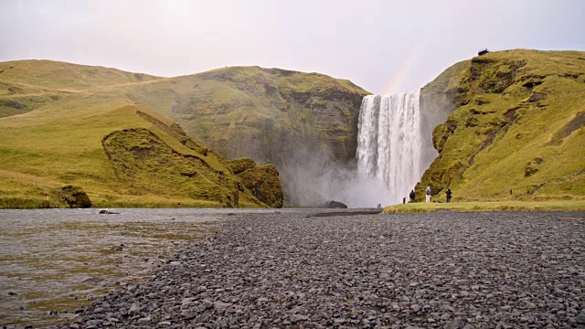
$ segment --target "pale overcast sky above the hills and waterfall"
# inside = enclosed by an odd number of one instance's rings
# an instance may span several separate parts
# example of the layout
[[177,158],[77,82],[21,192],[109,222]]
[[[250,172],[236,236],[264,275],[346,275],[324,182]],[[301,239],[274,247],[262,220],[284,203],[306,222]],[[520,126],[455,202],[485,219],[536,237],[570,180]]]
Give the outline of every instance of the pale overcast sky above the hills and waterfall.
[[419,90],[479,48],[585,50],[585,1],[0,2],[0,61],[44,58],[172,77],[224,66]]

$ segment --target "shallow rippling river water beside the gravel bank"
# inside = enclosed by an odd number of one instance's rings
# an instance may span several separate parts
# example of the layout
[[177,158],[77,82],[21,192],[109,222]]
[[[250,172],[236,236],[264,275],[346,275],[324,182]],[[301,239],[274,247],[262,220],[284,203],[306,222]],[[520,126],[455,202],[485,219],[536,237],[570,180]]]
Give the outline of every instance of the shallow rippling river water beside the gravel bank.
[[0,210],[0,327],[67,323],[90,299],[144,281],[234,209]]

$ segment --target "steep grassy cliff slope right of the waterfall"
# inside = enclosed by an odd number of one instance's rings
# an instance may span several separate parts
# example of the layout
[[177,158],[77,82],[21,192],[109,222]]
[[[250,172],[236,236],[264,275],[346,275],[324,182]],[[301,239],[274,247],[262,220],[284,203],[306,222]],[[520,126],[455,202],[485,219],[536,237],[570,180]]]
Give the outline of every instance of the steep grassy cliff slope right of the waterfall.
[[[451,111],[417,186],[444,201],[585,196],[585,53],[508,50],[456,64],[421,90]],[[510,194],[511,191],[511,194]]]

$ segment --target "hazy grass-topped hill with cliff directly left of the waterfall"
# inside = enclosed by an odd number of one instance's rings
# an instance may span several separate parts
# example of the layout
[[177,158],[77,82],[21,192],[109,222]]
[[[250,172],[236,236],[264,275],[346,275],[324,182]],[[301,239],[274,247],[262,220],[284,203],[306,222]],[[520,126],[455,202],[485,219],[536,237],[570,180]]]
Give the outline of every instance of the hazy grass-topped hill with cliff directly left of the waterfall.
[[218,154],[279,168],[302,147],[353,158],[359,106],[367,95],[348,80],[259,67],[214,69],[129,86],[127,92]]

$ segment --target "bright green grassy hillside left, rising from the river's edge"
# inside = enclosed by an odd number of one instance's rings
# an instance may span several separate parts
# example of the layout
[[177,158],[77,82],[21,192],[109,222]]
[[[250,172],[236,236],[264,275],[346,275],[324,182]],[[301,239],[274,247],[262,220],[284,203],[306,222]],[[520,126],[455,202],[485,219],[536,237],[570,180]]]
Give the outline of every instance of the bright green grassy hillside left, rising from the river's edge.
[[1,68],[10,70],[0,84],[12,99],[51,101],[0,118],[0,207],[72,207],[83,191],[94,207],[282,207],[273,166],[251,163],[254,175],[236,174],[229,160],[133,101],[128,86],[154,77],[48,61]]

